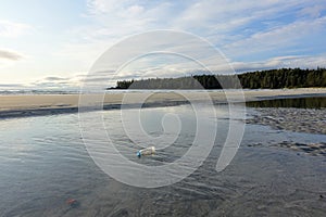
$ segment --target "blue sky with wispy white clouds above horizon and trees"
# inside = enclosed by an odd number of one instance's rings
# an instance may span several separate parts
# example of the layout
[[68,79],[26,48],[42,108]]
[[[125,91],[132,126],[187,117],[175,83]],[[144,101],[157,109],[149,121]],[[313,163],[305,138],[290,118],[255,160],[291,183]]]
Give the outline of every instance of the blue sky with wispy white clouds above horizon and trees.
[[[0,89],[78,89],[105,51],[156,29],[209,41],[236,73],[326,67],[325,0],[0,0]],[[112,80],[199,69],[181,59],[142,58]]]

